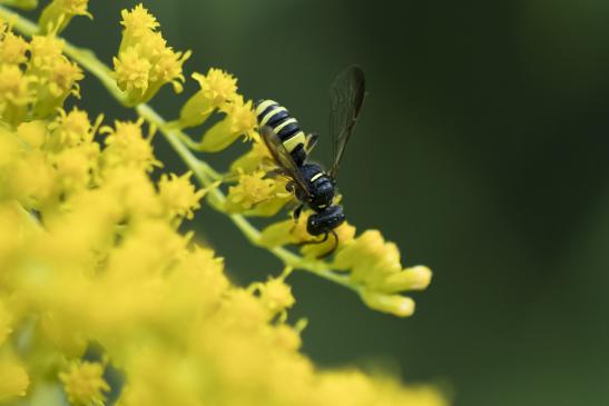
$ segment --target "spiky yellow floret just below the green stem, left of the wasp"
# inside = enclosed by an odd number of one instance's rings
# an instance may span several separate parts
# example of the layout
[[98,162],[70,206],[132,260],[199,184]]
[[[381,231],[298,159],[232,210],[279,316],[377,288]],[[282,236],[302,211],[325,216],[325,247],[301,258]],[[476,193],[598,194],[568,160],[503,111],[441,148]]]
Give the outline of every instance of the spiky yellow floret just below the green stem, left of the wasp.
[[205,190],[195,190],[195,186],[189,180],[191,176],[190,171],[180,177],[175,174],[161,176],[158,195],[168,218],[191,219],[193,211],[200,207],[199,200],[205,195]]

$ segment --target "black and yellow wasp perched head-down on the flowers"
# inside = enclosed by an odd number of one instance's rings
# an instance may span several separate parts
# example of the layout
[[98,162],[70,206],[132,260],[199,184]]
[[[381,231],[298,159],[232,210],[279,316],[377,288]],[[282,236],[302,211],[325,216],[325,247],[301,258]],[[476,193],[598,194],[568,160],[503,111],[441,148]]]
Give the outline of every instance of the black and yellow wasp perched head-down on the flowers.
[[322,236],[321,240],[305,244],[320,244],[334,236],[334,246],[322,257],[328,256],[338,246],[335,229],[345,221],[343,207],[334,205],[336,177],[346,145],[365,98],[364,71],[358,66],[350,66],[336,76],[330,88],[330,137],[332,140],[333,164],[326,172],[317,164],[308,161],[308,155],[317,142],[316,135],[305,135],[298,121],[291,117],[287,109],[274,100],[261,100],[256,103],[256,117],[261,136],[277,167],[274,172],[289,181],[286,190],[294,192],[299,205],[294,210],[297,220],[305,207],[312,214],[306,230],[312,236]]

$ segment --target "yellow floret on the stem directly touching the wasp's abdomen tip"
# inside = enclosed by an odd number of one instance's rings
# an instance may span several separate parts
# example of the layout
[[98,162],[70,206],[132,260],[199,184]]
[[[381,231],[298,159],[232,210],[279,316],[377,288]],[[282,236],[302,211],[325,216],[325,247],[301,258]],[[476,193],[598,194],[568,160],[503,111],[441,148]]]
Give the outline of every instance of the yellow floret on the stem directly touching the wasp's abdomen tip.
[[198,150],[218,152],[240,136],[245,136],[246,139],[254,137],[257,121],[252,109],[252,100],[244,102],[243,97],[237,97],[223,110],[226,112],[226,118],[204,133]]

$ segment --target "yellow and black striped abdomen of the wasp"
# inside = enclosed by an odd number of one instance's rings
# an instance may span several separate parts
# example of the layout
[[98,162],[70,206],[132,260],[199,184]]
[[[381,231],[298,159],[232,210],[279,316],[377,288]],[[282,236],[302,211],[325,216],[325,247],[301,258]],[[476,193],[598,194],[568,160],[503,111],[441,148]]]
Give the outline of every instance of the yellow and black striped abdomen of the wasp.
[[285,107],[274,100],[261,100],[256,103],[256,117],[261,127],[273,129],[289,154],[296,152],[294,150],[298,145],[302,145],[298,149],[304,147],[306,136]]

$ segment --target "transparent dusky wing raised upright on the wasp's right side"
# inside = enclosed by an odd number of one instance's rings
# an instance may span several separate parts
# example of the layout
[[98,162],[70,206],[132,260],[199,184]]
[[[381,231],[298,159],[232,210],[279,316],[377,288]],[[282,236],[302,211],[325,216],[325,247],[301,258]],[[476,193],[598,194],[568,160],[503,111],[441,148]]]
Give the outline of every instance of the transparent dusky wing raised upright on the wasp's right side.
[[336,179],[338,165],[357,122],[365,97],[364,71],[356,65],[343,70],[330,88],[330,135],[333,164],[330,176]]

